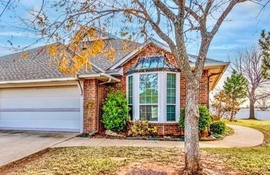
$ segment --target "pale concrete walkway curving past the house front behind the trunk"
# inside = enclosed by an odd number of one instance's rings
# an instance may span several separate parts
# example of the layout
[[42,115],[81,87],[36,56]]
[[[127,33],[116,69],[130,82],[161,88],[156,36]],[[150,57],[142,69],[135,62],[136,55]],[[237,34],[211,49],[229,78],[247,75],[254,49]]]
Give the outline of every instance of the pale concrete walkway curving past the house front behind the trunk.
[[[264,136],[260,131],[249,127],[229,125],[234,134],[219,141],[200,141],[201,148],[252,147],[263,143]],[[184,141],[152,141],[152,140],[118,140],[88,139],[75,137],[53,147],[71,146],[138,146],[138,147],[178,147],[184,148]]]

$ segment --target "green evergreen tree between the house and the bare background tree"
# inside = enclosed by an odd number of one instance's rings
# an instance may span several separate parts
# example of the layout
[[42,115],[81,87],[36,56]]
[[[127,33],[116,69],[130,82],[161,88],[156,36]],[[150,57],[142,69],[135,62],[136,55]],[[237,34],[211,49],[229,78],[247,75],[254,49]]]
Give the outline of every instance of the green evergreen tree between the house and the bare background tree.
[[[236,70],[232,71],[231,77],[227,77],[227,80],[223,86],[224,91],[231,97],[232,101],[237,101],[238,104],[242,104],[248,95],[248,81],[242,75],[237,73]],[[237,111],[231,110],[231,119]]]

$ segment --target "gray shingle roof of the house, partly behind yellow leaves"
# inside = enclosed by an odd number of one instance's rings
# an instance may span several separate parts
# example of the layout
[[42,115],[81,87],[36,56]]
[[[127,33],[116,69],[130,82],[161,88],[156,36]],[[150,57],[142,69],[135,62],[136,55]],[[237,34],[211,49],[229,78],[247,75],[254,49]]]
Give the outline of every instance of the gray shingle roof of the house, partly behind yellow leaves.
[[[140,43],[136,42],[124,43],[122,39],[118,38],[109,38],[104,41],[106,47],[115,49],[115,59],[109,60],[107,56],[103,54],[97,55],[94,58],[90,58],[90,62],[96,65],[99,69],[93,66],[93,69],[89,69],[87,71],[82,70],[79,74],[93,74],[101,72],[113,74],[114,72],[118,72],[121,68],[116,68],[115,70],[110,70],[109,68],[140,45]],[[129,46],[125,51],[123,51],[124,44]],[[71,75],[61,73],[57,66],[52,63],[47,51],[43,50],[40,52],[42,48],[43,47],[28,50],[29,56],[27,58],[23,57],[22,52],[1,56],[0,81],[71,77]],[[191,62],[196,60],[195,55],[190,54],[189,56]],[[217,63],[222,61],[207,58],[207,62]]]

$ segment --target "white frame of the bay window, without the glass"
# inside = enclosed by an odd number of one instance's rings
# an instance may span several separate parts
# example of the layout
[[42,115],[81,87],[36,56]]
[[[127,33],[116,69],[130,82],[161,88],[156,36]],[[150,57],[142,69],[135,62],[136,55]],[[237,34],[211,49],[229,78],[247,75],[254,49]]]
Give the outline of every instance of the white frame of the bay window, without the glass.
[[[139,103],[139,75],[140,74],[158,74],[158,104],[140,104]],[[167,73],[176,74],[176,105],[175,105],[175,121],[167,121]],[[128,77],[133,76],[133,121],[140,120],[140,105],[157,105],[157,121],[149,121],[149,123],[178,123],[180,115],[180,73],[173,71],[148,71],[135,72],[126,78],[126,94],[128,99]]]

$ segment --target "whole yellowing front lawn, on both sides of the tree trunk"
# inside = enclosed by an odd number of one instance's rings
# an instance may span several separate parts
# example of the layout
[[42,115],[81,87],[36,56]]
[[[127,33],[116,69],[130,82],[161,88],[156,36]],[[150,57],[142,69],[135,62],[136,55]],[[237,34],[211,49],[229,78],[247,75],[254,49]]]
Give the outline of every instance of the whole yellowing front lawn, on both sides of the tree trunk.
[[[270,175],[270,121],[239,120],[231,124],[262,131],[265,134],[264,145],[254,148],[204,148],[204,167],[219,175]],[[70,147],[49,149],[38,156],[28,157],[0,170],[0,175],[125,175],[135,169],[174,175],[183,165],[183,150],[176,148]]]

